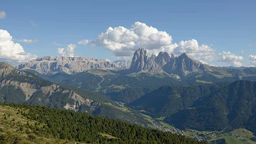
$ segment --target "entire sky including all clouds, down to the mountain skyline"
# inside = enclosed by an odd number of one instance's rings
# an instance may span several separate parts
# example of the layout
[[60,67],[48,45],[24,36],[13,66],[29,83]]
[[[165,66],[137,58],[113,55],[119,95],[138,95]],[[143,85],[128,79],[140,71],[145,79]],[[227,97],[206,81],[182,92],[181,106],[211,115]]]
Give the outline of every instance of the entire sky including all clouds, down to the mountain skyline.
[[181,53],[213,66],[256,66],[256,1],[0,1],[0,61]]

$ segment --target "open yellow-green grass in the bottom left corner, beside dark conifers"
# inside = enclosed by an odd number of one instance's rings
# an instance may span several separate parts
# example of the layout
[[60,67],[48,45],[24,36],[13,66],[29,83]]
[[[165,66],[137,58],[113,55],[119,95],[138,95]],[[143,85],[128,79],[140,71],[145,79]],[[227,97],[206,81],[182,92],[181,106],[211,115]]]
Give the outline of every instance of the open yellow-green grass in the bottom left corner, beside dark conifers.
[[[26,113],[26,110],[11,108],[10,106],[0,106],[0,143],[77,143],[70,140],[60,140],[43,135],[35,135],[32,130],[26,125],[35,125],[39,123],[36,120],[28,120],[21,111]],[[21,129],[23,125],[23,129]],[[43,126],[43,124],[40,124]],[[32,138],[31,138],[32,137]]]

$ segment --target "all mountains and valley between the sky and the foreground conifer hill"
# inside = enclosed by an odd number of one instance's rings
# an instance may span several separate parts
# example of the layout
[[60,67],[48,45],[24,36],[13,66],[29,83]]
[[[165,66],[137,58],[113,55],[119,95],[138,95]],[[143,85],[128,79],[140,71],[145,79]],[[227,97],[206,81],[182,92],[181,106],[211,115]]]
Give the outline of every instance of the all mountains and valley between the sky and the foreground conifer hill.
[[1,103],[73,110],[161,130],[166,123],[181,130],[256,133],[253,67],[209,66],[186,53],[148,56],[139,48],[132,61],[45,56],[16,68],[0,63]]

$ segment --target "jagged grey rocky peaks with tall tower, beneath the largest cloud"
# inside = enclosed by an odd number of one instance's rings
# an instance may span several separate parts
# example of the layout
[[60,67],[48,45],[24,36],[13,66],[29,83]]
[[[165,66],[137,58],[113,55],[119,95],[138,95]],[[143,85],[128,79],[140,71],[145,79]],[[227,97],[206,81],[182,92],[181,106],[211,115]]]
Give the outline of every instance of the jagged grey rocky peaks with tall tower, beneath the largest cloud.
[[148,56],[144,48],[139,48],[134,52],[132,64],[129,71],[132,73],[146,72],[146,73],[161,73],[176,74],[178,76],[188,76],[191,73],[201,73],[202,71],[210,70],[208,66],[196,61],[195,59],[186,55],[175,57],[166,52],[160,52],[158,56]]

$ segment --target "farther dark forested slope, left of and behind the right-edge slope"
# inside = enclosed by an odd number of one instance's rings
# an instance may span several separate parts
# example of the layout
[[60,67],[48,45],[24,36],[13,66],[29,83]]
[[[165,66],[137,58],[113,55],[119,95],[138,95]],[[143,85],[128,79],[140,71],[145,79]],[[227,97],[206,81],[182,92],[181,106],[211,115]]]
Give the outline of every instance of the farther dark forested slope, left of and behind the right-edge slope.
[[161,86],[127,104],[137,110],[144,110],[155,118],[167,117],[180,110],[190,108],[199,99],[216,91],[217,85],[204,86]]

